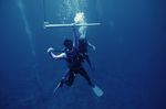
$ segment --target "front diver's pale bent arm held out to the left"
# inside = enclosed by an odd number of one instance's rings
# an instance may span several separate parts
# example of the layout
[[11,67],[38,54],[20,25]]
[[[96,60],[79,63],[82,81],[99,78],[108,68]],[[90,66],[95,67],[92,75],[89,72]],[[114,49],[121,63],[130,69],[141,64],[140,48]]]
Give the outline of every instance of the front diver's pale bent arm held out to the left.
[[64,58],[66,58],[66,54],[65,53],[61,53],[60,55],[54,55],[53,54],[53,48],[52,47],[50,47],[49,50],[48,50],[48,53],[49,53],[49,55],[53,58],[53,59],[64,59]]

